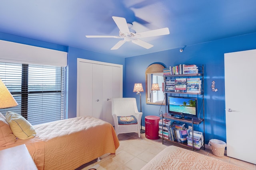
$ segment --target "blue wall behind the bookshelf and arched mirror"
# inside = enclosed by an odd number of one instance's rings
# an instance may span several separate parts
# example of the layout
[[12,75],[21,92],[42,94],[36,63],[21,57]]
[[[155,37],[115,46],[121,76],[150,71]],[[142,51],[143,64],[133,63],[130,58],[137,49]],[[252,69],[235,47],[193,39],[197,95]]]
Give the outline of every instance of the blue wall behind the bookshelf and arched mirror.
[[[204,64],[204,97],[205,97],[205,141],[210,139],[226,141],[225,88],[224,88],[224,53],[256,49],[256,33],[210,41],[179,49],[172,49],[148,55],[129,57],[125,59],[124,97],[135,97],[139,107],[139,96],[132,92],[134,83],[142,82],[145,90],[145,70],[152,63],[162,63],[164,66],[177,64]],[[217,92],[211,89],[215,81]],[[146,94],[142,92],[143,120],[146,115],[159,115],[159,110],[165,113],[165,106],[146,104]],[[142,122],[142,125],[145,123]],[[196,125],[196,130],[202,131],[203,124]]]

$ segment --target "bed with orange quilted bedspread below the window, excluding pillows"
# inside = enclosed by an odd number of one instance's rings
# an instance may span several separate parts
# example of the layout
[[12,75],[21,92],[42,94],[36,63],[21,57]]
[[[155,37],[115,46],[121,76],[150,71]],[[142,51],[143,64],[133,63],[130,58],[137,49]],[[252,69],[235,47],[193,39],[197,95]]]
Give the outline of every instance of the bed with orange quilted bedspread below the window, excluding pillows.
[[18,139],[0,150],[25,144],[39,170],[74,170],[119,147],[114,127],[91,116],[33,127],[36,137]]

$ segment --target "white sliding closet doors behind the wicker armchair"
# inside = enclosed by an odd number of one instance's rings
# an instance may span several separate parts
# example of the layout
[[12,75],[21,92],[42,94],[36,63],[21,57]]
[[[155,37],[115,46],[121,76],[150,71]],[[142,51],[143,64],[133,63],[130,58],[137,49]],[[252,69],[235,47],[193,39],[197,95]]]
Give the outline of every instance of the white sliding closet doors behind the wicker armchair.
[[78,59],[77,116],[91,115],[114,125],[112,98],[122,97],[122,65]]

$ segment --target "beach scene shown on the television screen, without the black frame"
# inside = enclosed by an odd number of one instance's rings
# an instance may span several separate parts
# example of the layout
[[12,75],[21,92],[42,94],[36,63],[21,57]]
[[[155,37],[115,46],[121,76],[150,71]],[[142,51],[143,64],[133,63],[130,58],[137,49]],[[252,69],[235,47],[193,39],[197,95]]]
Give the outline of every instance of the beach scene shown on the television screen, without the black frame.
[[191,98],[169,98],[169,110],[196,115],[196,100]]

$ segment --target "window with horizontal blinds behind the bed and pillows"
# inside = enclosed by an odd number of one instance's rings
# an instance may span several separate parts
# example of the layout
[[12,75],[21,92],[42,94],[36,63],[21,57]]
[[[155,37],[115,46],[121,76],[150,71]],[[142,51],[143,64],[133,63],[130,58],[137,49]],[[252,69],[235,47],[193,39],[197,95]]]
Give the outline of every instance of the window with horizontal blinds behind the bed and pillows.
[[0,109],[21,114],[32,125],[64,119],[65,68],[0,62],[0,78],[19,104]]

